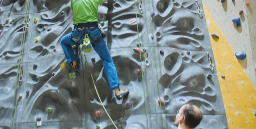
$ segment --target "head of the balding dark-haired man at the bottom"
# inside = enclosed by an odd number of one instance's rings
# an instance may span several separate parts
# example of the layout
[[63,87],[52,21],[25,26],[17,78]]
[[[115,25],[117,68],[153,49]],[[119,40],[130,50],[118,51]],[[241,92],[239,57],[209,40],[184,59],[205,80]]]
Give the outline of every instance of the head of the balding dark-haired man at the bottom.
[[174,125],[177,129],[194,129],[203,119],[200,109],[194,104],[185,104],[177,111]]

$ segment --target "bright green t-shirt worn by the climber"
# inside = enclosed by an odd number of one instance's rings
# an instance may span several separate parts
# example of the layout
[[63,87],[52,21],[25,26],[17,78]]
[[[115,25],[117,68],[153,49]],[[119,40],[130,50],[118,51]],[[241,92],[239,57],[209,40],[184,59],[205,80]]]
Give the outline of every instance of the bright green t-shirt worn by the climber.
[[74,22],[78,23],[99,22],[98,7],[103,4],[103,0],[71,0],[71,10],[73,10]]

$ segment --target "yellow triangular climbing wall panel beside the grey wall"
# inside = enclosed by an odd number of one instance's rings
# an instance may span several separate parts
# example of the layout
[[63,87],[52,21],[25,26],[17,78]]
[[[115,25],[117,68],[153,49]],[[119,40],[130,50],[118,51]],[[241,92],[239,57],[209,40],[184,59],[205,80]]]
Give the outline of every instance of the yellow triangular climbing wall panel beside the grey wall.
[[[256,129],[256,90],[212,15],[204,13],[212,43],[229,129]],[[215,33],[220,38],[213,39]],[[224,75],[225,78],[221,78]]]

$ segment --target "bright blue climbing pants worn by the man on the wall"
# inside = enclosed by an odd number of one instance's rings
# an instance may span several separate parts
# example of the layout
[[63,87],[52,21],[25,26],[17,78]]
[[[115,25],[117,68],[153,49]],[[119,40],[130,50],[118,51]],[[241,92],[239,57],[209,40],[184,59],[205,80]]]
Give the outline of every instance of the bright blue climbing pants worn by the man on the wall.
[[[85,38],[85,35],[83,34],[83,33],[85,33],[85,31],[87,31],[87,33],[89,33],[89,36],[90,36],[89,39],[91,40],[93,49],[98,53],[99,57],[101,58],[101,61],[103,63],[104,69],[105,69],[105,73],[107,75],[107,80],[109,82],[110,89],[111,90],[113,90],[115,88],[120,89],[119,88],[119,85],[120,85],[119,78],[117,76],[117,69],[115,67],[113,59],[111,58],[109,49],[107,48],[105,41],[102,39],[99,42],[99,44],[93,45],[94,41],[99,39],[99,37],[102,34],[99,27],[84,29],[81,31],[73,30],[71,33],[68,33],[67,35],[65,35],[64,37],[61,38],[60,44],[65,53],[67,61],[69,63],[71,63],[73,61],[78,62],[75,52],[74,52],[73,48],[71,47],[71,45],[75,45],[75,43],[73,43],[73,40],[76,40],[77,43],[81,44],[83,42],[82,40]],[[71,35],[72,35],[72,39],[71,39]],[[93,38],[93,39],[91,39],[91,38]]]

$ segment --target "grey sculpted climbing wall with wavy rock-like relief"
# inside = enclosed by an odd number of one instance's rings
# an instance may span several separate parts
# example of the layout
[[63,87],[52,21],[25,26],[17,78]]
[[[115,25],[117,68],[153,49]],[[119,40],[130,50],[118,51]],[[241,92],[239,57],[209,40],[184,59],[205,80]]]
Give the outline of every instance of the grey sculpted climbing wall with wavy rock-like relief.
[[[197,129],[228,129],[202,1],[199,3],[202,15],[198,15],[194,0],[150,0],[151,11],[155,12],[152,24],[160,96],[165,103],[164,129],[177,128],[173,125],[176,112],[188,102],[196,104],[204,114]],[[60,39],[73,28],[70,4],[69,0],[30,0],[22,58],[23,83],[18,90],[23,97],[18,99],[15,119],[18,129],[37,129],[38,116],[42,117],[41,129],[95,129],[96,124],[101,129],[115,129],[99,102],[85,57],[79,55],[77,79],[69,78],[68,65],[60,69],[67,61]],[[129,96],[117,100],[97,53],[92,51],[86,56],[101,100],[118,129],[147,129],[146,118],[149,129],[161,129],[149,4],[142,1],[140,11],[136,0],[136,6],[141,49],[147,49],[150,64],[145,65],[143,56],[146,100],[142,75],[137,73],[137,69],[141,70],[139,53],[133,50],[138,43],[137,24],[131,23],[136,19],[133,0],[109,0],[99,7],[99,22],[105,22],[99,26],[106,35],[121,89],[128,88]],[[25,7],[26,0],[4,0],[0,7],[0,129],[10,126]],[[62,11],[64,20],[60,19]],[[10,21],[6,23],[8,17]],[[34,17],[37,23],[33,23]],[[159,53],[161,49],[163,55]],[[212,56],[212,71],[206,52]],[[212,79],[206,78],[208,74],[212,74]],[[30,93],[26,96],[28,88]],[[179,101],[181,97],[185,102]],[[52,113],[48,113],[48,108],[53,109]],[[100,116],[96,115],[97,110],[101,111]]]

